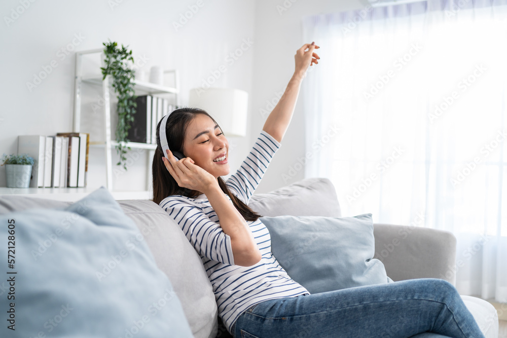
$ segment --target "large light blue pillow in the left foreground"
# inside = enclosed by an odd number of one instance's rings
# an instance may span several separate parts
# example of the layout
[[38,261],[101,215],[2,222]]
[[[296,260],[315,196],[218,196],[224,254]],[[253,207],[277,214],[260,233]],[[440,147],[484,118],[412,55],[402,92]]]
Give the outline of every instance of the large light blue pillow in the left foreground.
[[0,289],[0,336],[192,337],[142,234],[103,187],[65,209],[1,222],[0,286],[13,278],[14,289]]

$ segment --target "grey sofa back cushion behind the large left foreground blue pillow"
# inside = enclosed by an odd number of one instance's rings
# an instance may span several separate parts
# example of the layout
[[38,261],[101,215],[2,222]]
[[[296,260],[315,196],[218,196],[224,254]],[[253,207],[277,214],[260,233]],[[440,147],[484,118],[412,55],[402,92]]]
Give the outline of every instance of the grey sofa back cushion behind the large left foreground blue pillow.
[[[218,310],[202,261],[179,226],[159,205],[147,200],[118,201],[137,225],[155,261],[171,281],[196,338],[214,337]],[[0,196],[0,214],[33,208],[64,209],[70,202]],[[0,284],[1,285],[1,284]]]

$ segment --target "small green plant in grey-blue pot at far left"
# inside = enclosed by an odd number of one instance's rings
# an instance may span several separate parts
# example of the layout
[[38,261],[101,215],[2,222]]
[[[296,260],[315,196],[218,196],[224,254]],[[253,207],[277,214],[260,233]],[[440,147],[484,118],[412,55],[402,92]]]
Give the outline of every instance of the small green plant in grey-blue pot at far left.
[[26,155],[6,155],[0,160],[5,165],[6,185],[9,188],[27,188],[30,186],[33,158]]

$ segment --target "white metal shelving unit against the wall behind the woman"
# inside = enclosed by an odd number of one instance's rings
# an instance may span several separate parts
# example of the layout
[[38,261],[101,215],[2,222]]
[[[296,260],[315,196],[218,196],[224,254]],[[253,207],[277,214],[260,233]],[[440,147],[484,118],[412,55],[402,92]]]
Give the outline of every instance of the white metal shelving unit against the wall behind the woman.
[[[104,123],[104,138],[105,141],[96,141],[90,139],[90,147],[103,147],[104,148],[104,157],[105,157],[105,178],[106,178],[106,187],[110,192],[114,192],[113,189],[113,163],[112,163],[112,147],[116,146],[118,142],[111,139],[111,97],[110,97],[110,77],[107,76],[103,81],[102,77],[99,78],[84,78],[83,77],[83,57],[88,54],[101,54],[101,64],[104,66],[105,55],[103,54],[102,49],[94,49],[88,51],[76,52],[76,79],[75,79],[75,95],[74,95],[74,132],[81,131],[81,98],[83,91],[83,83],[88,83],[92,85],[102,86],[102,95],[104,99],[103,105],[103,123]],[[134,81],[134,89],[136,95],[156,95],[156,94],[174,94],[174,102],[173,104],[178,105],[178,94],[179,94],[179,79],[178,79],[178,71],[177,70],[166,70],[164,73],[173,74],[174,77],[174,87],[166,87],[160,86],[156,84],[152,84],[149,82],[140,82]],[[86,131],[84,131],[86,132]],[[128,144],[124,144],[131,148],[138,149],[147,149],[149,152],[149,156],[147,156],[147,177],[146,177],[146,192],[138,192],[140,194],[148,194],[150,189],[150,172],[151,172],[151,162],[153,159],[153,155],[155,153],[155,149],[157,147],[156,144],[151,143],[136,143],[129,142]]]

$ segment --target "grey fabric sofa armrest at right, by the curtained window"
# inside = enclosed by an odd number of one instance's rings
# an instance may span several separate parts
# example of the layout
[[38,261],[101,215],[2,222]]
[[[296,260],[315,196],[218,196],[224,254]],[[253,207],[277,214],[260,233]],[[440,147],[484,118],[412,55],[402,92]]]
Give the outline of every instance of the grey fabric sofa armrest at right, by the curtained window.
[[440,278],[456,281],[456,238],[436,229],[374,224],[375,256],[393,281]]

